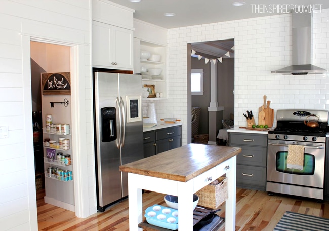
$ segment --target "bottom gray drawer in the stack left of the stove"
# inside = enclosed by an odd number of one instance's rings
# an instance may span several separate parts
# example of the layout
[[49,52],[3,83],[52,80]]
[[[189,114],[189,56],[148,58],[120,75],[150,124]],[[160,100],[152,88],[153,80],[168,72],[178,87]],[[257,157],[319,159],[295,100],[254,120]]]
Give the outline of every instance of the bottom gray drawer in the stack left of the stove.
[[236,182],[266,186],[266,168],[236,165]]

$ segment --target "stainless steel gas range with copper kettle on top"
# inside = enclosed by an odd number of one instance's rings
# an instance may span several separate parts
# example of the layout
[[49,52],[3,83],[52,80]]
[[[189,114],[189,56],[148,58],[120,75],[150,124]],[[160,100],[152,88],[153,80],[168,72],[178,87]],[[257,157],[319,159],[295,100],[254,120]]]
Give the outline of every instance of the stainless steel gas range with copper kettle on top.
[[[323,200],[327,126],[326,110],[277,110],[277,127],[268,132],[266,190],[269,194]],[[296,145],[303,146],[299,149],[300,168],[287,164],[288,156],[296,155],[289,153]]]

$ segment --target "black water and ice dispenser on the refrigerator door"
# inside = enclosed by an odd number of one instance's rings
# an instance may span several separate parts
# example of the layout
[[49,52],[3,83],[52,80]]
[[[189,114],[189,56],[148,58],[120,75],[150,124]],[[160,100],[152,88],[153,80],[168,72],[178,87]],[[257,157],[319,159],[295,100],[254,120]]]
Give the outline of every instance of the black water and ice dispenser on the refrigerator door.
[[116,109],[115,107],[104,107],[102,115],[102,142],[116,140]]

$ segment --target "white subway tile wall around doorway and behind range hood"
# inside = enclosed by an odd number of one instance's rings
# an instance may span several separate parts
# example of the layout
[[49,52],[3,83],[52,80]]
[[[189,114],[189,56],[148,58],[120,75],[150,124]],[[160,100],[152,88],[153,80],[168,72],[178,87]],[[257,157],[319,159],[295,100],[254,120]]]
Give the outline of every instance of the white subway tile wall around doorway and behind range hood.
[[[329,10],[313,13],[311,63],[329,69]],[[187,44],[234,38],[235,125],[245,126],[246,110],[258,111],[263,95],[275,110],[286,108],[329,109],[329,75],[273,75],[271,71],[292,63],[292,17],[290,14],[259,17],[168,30],[167,101],[156,102],[160,118],[183,121],[183,144],[187,143]],[[218,64],[220,65],[220,63]],[[255,114],[256,121],[258,113]],[[274,121],[274,126],[276,121]]]

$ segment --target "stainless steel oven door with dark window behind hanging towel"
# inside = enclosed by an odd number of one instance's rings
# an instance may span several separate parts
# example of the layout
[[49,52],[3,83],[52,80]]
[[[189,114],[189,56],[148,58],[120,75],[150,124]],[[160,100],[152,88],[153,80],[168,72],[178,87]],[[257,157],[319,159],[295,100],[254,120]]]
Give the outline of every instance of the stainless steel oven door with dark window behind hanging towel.
[[[288,144],[304,145],[303,170],[287,168]],[[324,143],[268,140],[267,181],[323,188]]]

